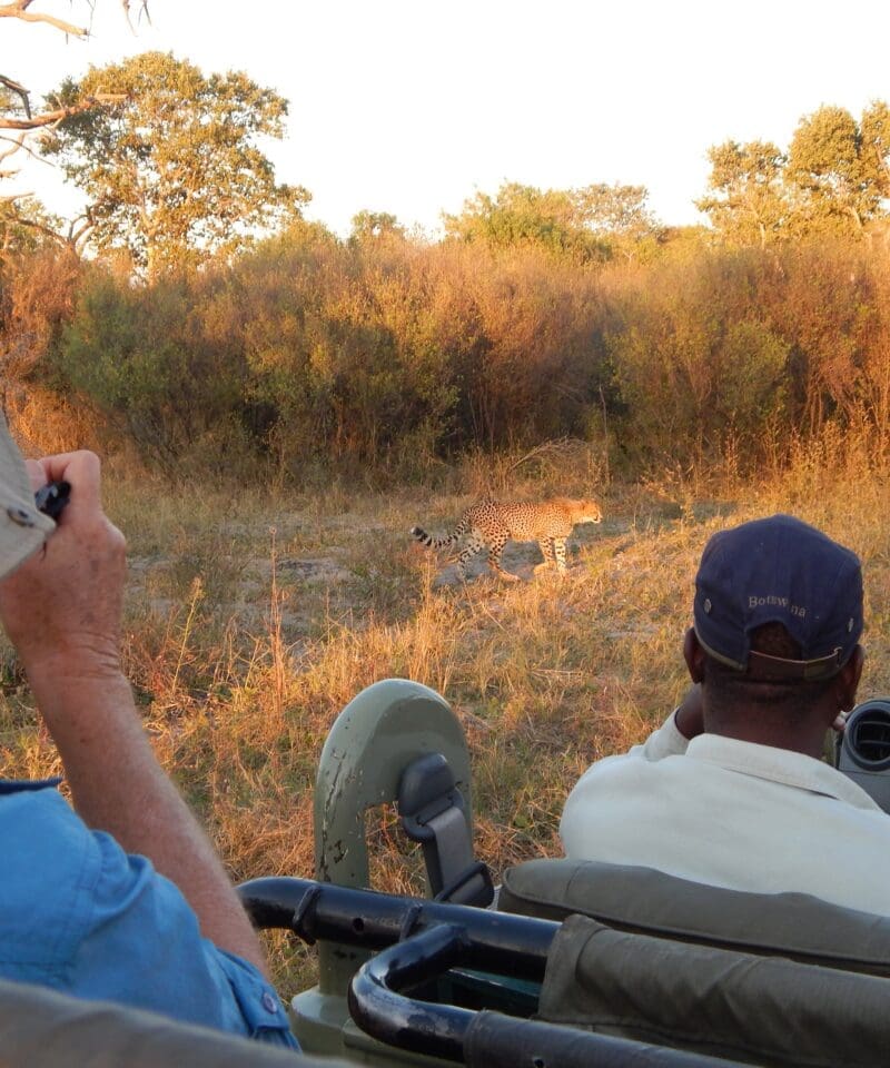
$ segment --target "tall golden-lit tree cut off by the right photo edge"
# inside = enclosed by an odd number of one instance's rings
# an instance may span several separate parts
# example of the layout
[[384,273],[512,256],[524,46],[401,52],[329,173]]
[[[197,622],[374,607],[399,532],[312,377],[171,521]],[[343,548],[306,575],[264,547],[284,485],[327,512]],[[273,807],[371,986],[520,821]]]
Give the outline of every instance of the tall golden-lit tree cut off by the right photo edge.
[[844,108],[821,107],[801,119],[788,154],[788,180],[801,227],[860,236],[883,214],[890,195],[888,108],[874,101],[856,119]]

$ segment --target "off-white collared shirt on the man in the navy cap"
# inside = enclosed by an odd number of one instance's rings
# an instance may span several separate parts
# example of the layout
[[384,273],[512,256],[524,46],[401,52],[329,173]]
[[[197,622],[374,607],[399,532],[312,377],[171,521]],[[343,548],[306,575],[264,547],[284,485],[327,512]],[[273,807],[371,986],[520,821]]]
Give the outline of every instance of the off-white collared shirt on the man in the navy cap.
[[674,713],[582,775],[560,834],[573,860],[890,914],[890,818],[860,787],[802,753],[716,734],[688,742]]

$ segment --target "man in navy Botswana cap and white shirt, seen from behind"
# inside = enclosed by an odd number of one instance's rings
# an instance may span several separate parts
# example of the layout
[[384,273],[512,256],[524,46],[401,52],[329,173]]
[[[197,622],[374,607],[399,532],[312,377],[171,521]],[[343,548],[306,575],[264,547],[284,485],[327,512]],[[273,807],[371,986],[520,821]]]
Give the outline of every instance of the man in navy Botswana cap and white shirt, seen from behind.
[[705,546],[693,616],[692,690],[582,775],[566,854],[890,913],[890,819],[820,759],[862,671],[859,560],[789,515],[745,523]]

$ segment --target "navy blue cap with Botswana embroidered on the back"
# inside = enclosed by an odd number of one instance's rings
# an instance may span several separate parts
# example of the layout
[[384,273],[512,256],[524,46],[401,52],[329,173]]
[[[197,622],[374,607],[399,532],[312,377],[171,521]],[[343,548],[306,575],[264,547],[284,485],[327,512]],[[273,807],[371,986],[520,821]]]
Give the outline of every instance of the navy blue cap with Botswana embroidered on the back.
[[827,679],[862,633],[862,568],[856,553],[792,515],[754,520],[705,545],[693,612],[699,642],[724,664],[746,671],[751,632],[781,623],[801,660],[758,660],[775,665],[773,678]]

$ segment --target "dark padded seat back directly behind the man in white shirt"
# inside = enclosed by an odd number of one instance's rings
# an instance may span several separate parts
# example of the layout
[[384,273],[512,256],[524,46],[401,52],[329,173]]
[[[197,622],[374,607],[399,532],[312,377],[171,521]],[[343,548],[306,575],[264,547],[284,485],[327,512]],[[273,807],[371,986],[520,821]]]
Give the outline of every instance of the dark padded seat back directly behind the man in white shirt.
[[532,860],[504,874],[498,909],[890,977],[890,919],[805,893],[748,893],[651,868]]

